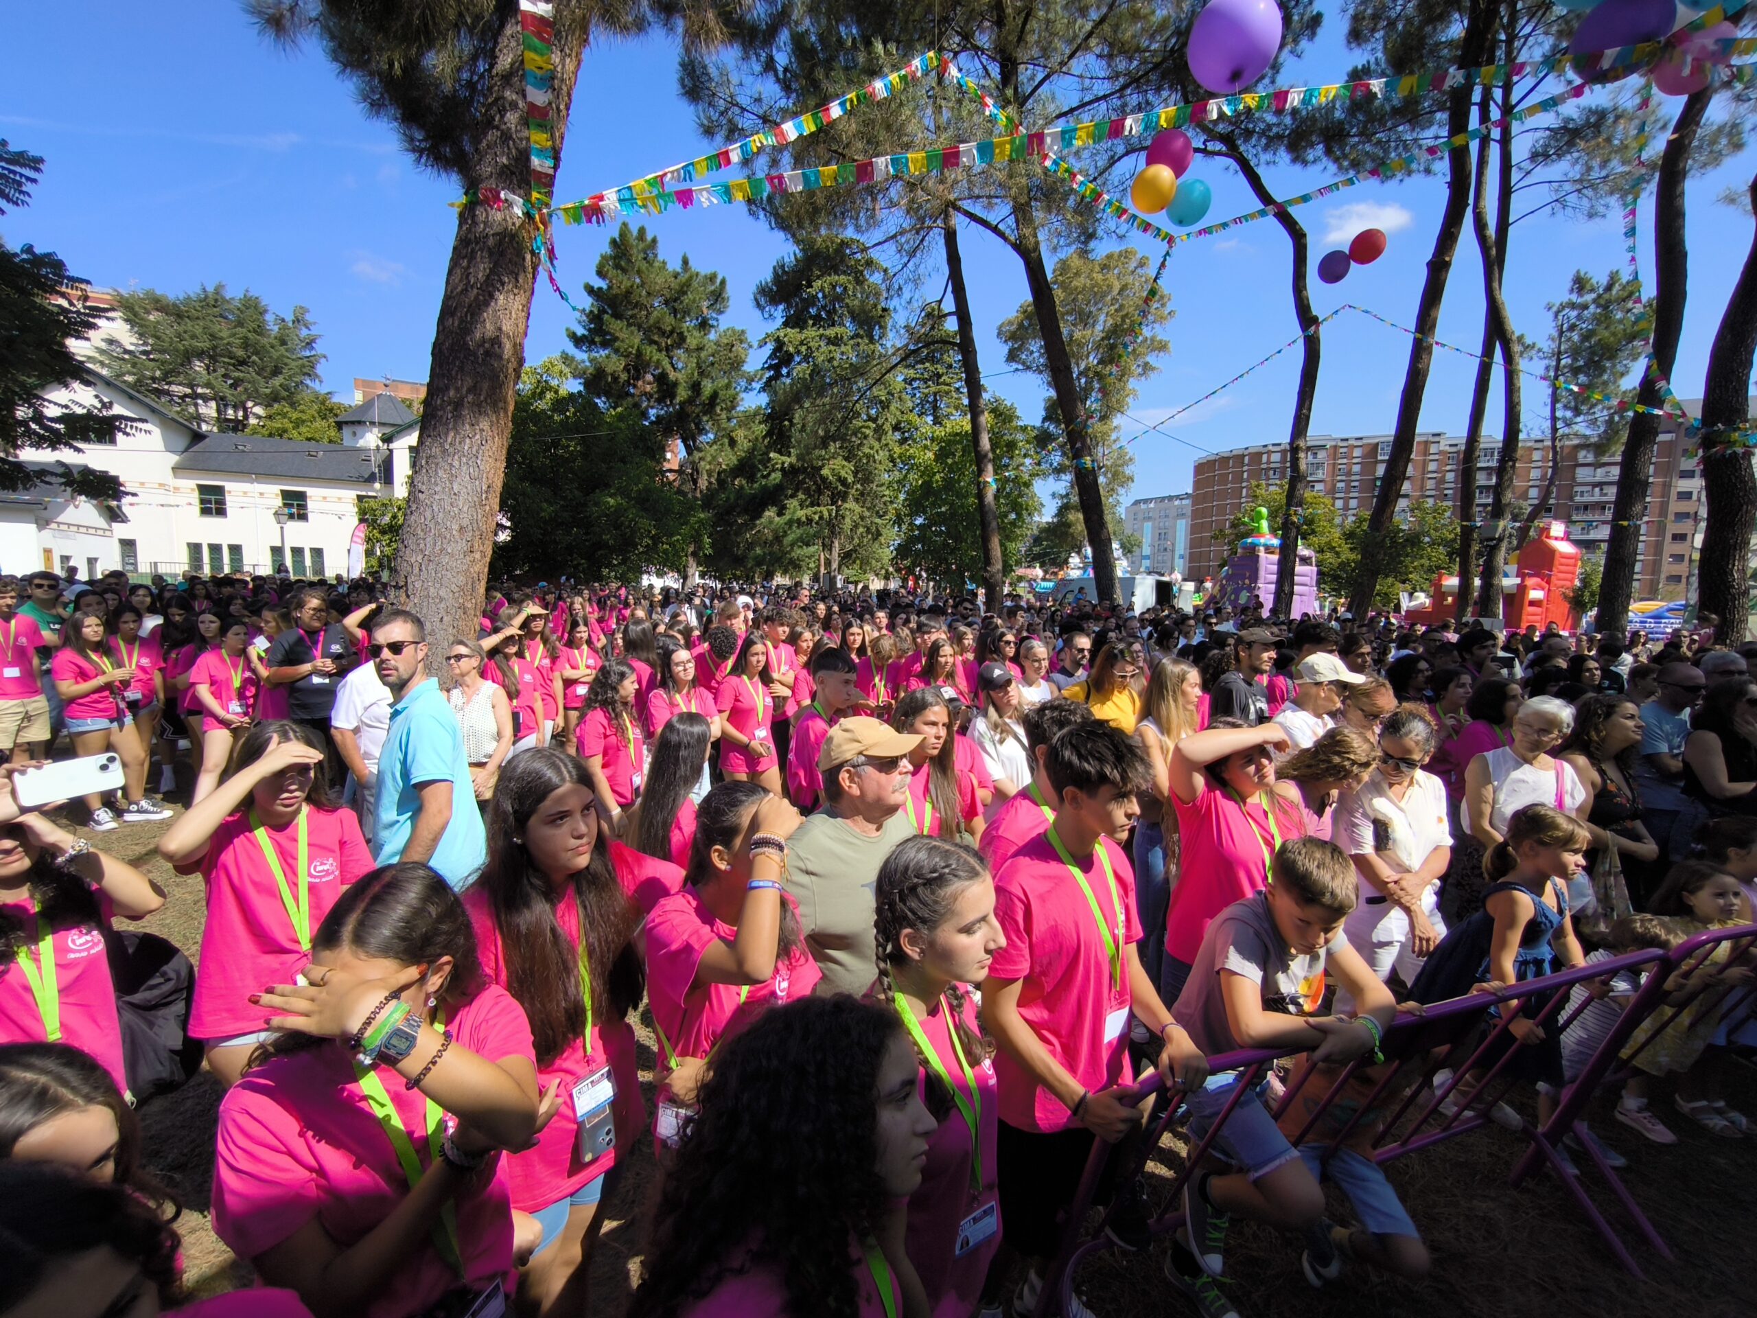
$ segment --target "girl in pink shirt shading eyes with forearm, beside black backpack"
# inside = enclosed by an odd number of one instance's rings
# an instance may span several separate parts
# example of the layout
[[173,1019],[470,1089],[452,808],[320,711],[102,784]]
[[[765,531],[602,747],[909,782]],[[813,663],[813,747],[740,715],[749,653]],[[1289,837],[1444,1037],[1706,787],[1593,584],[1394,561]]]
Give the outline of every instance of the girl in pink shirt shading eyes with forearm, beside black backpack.
[[158,854],[206,880],[190,1033],[235,1084],[269,1037],[269,1012],[249,996],[306,968],[313,931],[371,873],[372,854],[353,810],[336,807],[318,735],[295,722],[253,726],[232,777],[165,829]]

